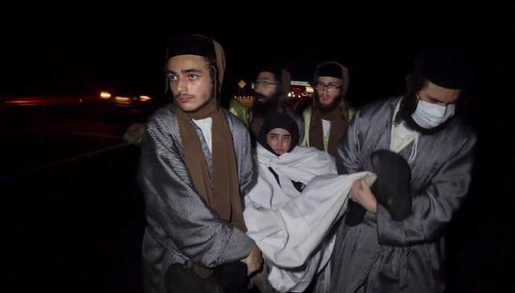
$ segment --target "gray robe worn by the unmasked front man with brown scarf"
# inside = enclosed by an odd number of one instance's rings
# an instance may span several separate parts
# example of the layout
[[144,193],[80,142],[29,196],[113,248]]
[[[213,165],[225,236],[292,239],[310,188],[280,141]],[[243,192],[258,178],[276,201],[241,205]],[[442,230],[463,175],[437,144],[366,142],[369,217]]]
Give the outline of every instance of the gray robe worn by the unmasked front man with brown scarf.
[[[152,115],[141,150],[139,181],[147,215],[142,255],[147,292],[165,292],[164,273],[170,264],[191,266],[194,260],[215,267],[247,257],[254,244],[241,230],[219,218],[194,190],[174,110],[169,105]],[[249,132],[234,115],[226,112],[226,118],[233,134],[243,196],[254,179]],[[202,131],[195,128],[211,167],[210,150]]]

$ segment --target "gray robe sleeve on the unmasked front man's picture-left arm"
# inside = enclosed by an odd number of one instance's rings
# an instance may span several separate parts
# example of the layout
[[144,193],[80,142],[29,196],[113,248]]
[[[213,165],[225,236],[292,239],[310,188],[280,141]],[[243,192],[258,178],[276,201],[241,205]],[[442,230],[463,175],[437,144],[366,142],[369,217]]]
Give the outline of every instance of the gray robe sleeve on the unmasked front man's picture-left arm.
[[151,233],[208,267],[247,257],[252,240],[218,218],[195,192],[171,120],[163,113],[151,119],[142,144],[139,180]]

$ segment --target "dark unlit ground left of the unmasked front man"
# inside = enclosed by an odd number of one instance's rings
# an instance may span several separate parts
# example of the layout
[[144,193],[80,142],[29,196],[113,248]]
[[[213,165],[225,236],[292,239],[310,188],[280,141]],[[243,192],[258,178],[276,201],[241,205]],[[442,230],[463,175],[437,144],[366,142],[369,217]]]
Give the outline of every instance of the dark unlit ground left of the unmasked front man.
[[142,291],[139,148],[119,145],[130,119],[22,112],[3,127],[1,291]]

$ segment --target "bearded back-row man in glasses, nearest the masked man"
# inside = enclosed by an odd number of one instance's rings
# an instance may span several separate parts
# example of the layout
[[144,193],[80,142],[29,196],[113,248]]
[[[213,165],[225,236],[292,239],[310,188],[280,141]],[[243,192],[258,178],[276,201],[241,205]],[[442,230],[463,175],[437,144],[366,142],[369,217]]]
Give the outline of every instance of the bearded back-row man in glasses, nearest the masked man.
[[313,86],[313,107],[303,112],[305,136],[301,146],[316,147],[335,157],[354,113],[345,100],[349,71],[337,62],[321,63],[315,69]]

